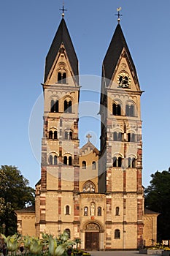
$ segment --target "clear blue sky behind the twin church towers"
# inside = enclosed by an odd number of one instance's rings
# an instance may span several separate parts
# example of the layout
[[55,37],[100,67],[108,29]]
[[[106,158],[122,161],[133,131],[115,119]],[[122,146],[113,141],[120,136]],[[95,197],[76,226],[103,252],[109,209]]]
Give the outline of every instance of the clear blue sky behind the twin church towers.
[[[18,166],[32,187],[40,178],[41,83],[45,56],[61,21],[62,4],[63,1],[57,0],[0,1],[0,165]],[[120,24],[141,89],[145,91],[142,94],[143,184],[147,187],[151,173],[170,166],[170,1],[65,0],[65,7],[80,75],[94,76],[97,80],[117,26],[116,9],[122,7]],[[98,82],[98,91],[100,86]],[[98,100],[97,94],[88,96],[89,100],[90,97],[96,97],[95,102]],[[35,111],[39,118],[33,117]],[[98,120],[92,120],[92,125],[86,127],[93,134],[96,146],[99,145],[98,126]],[[86,142],[84,125],[82,128],[80,145]]]

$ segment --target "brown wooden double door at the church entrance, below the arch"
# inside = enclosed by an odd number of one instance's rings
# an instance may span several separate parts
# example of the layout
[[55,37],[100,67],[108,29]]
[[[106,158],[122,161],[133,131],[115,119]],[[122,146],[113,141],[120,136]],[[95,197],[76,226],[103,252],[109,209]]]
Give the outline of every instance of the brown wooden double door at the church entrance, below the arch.
[[85,232],[85,249],[87,251],[98,250],[98,232]]

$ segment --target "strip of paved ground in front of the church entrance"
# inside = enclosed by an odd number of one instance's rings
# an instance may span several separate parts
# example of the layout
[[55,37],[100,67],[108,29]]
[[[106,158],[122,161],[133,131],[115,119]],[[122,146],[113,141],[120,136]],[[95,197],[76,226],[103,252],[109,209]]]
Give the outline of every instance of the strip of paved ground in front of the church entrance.
[[91,256],[105,256],[105,255],[106,256],[146,256],[143,254],[139,254],[138,251],[90,252],[90,255]]

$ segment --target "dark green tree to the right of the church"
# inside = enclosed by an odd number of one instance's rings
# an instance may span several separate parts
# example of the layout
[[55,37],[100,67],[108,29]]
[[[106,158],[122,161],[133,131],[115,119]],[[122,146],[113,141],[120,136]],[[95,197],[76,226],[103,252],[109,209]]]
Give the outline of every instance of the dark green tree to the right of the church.
[[170,168],[151,175],[150,186],[145,189],[145,207],[158,216],[158,241],[170,239]]

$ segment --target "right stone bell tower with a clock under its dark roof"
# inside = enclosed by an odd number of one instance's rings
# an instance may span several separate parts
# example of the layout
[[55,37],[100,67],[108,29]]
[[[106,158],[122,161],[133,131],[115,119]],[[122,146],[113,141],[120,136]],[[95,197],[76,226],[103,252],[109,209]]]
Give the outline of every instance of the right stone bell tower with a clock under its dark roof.
[[98,190],[107,195],[106,240],[128,249],[143,235],[142,91],[118,18],[102,65]]

